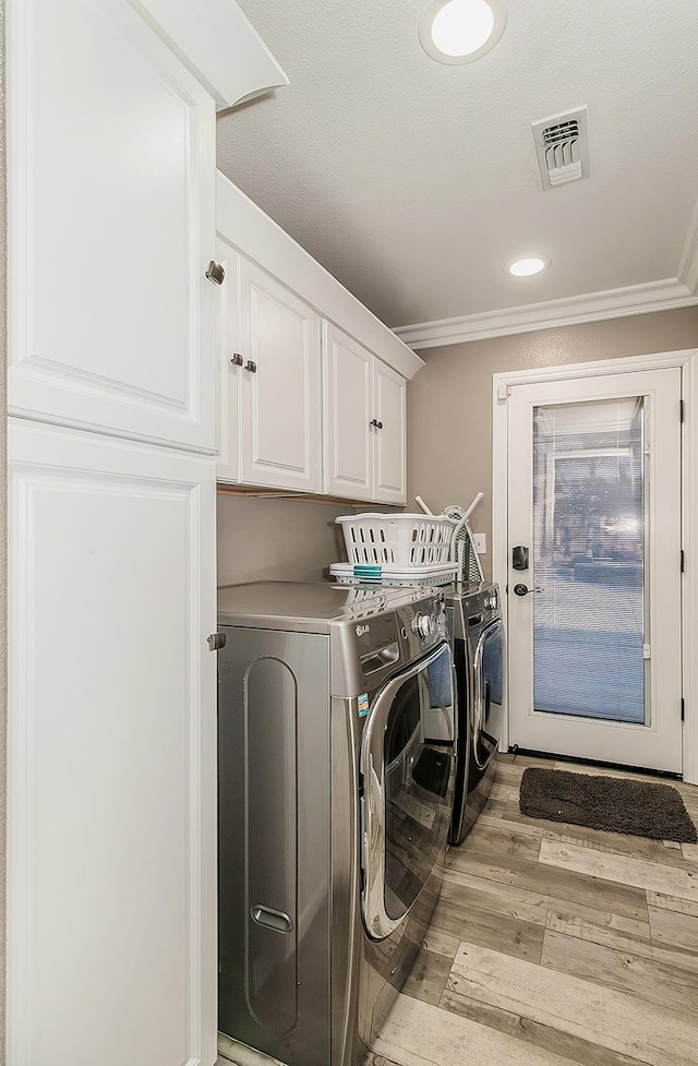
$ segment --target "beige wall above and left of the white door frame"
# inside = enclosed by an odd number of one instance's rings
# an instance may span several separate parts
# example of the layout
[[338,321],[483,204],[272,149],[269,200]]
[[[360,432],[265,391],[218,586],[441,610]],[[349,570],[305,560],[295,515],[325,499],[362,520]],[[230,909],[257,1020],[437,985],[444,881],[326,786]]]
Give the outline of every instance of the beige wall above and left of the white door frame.
[[[484,500],[472,528],[492,540],[492,375],[593,359],[698,348],[698,308],[588,325],[473,340],[420,352],[423,370],[407,388],[408,500],[419,493],[434,511]],[[409,506],[409,504],[408,504]]]

